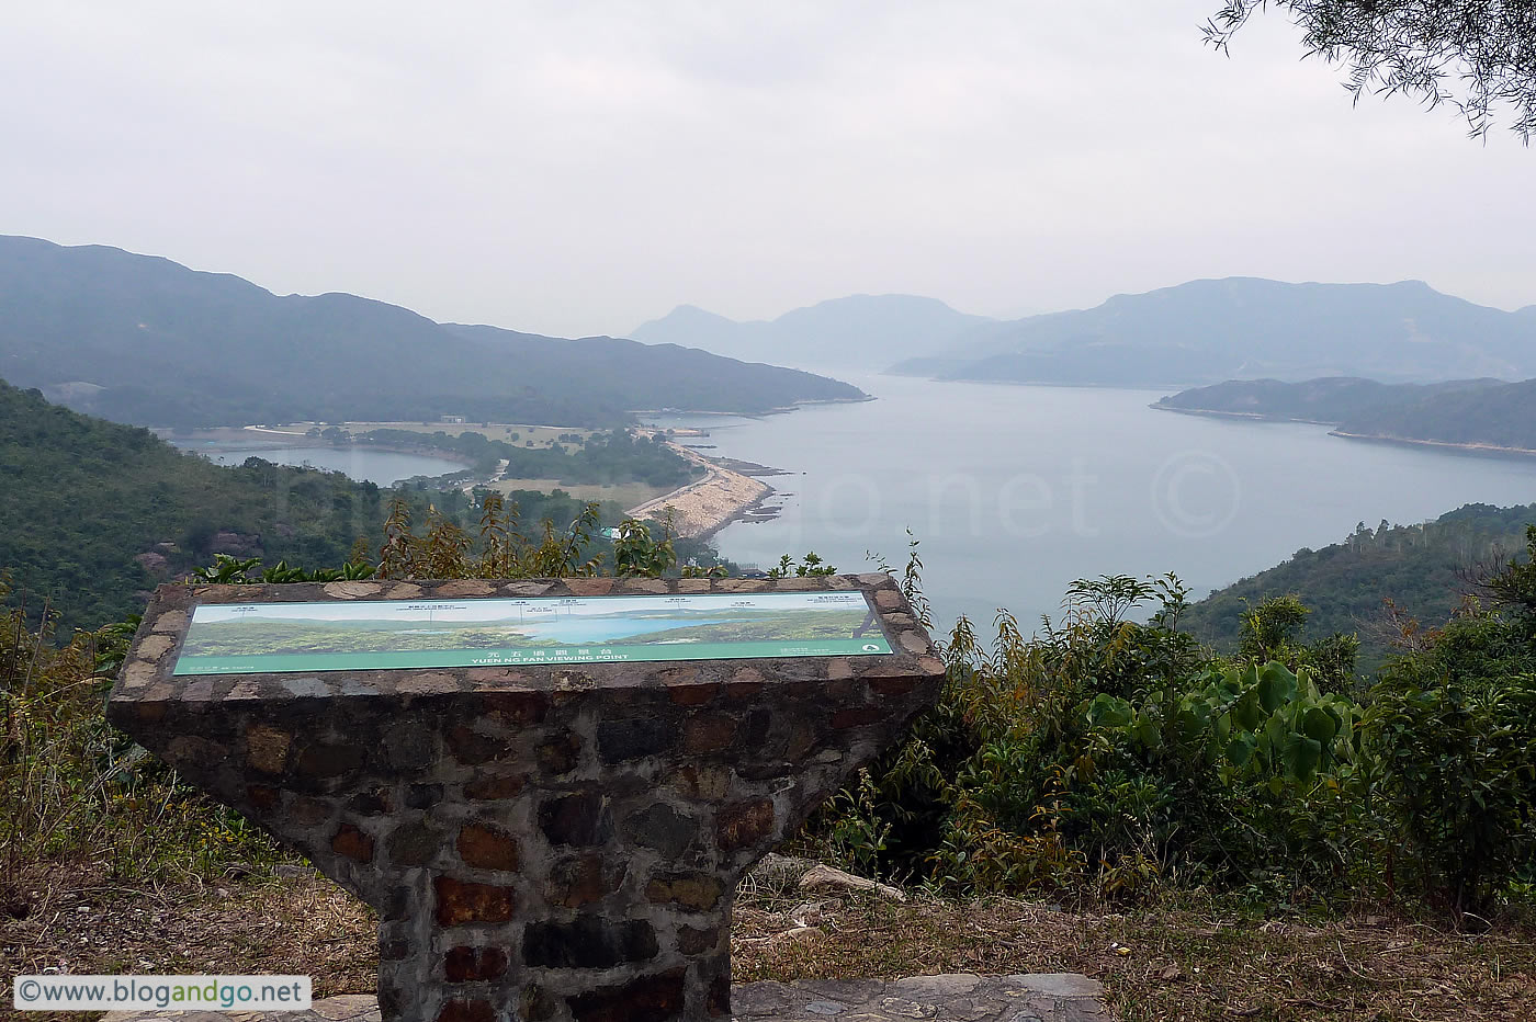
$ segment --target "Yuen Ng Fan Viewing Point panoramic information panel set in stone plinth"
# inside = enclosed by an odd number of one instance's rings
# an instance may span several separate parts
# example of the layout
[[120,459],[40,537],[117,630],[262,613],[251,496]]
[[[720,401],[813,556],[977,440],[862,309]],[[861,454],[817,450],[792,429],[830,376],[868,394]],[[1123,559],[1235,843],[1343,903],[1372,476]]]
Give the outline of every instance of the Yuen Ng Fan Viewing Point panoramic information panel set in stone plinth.
[[863,592],[209,603],[175,674],[889,652]]

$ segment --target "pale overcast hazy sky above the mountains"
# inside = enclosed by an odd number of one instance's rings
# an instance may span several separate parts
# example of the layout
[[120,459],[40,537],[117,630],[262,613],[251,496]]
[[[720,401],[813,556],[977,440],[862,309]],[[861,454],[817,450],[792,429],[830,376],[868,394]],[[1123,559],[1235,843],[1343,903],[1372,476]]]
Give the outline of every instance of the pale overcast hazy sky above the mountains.
[[1220,0],[8,5],[0,233],[622,335],[1197,276],[1536,302],[1536,149]]

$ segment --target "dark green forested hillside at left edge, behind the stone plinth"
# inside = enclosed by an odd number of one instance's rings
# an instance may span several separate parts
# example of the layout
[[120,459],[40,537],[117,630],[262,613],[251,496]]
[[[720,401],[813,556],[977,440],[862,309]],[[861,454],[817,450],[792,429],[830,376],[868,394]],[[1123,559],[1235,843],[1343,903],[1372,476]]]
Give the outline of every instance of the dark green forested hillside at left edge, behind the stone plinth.
[[[137,612],[141,592],[207,565],[215,552],[335,568],[358,537],[376,549],[387,491],[341,473],[250,459],[220,468],[147,430],[103,422],[0,382],[0,571],[34,609],[49,600],[71,628]],[[418,516],[427,494],[413,494]],[[525,526],[561,526],[568,496],[516,493]],[[430,494],[473,523],[464,494]],[[610,519],[614,516],[610,514]]]

